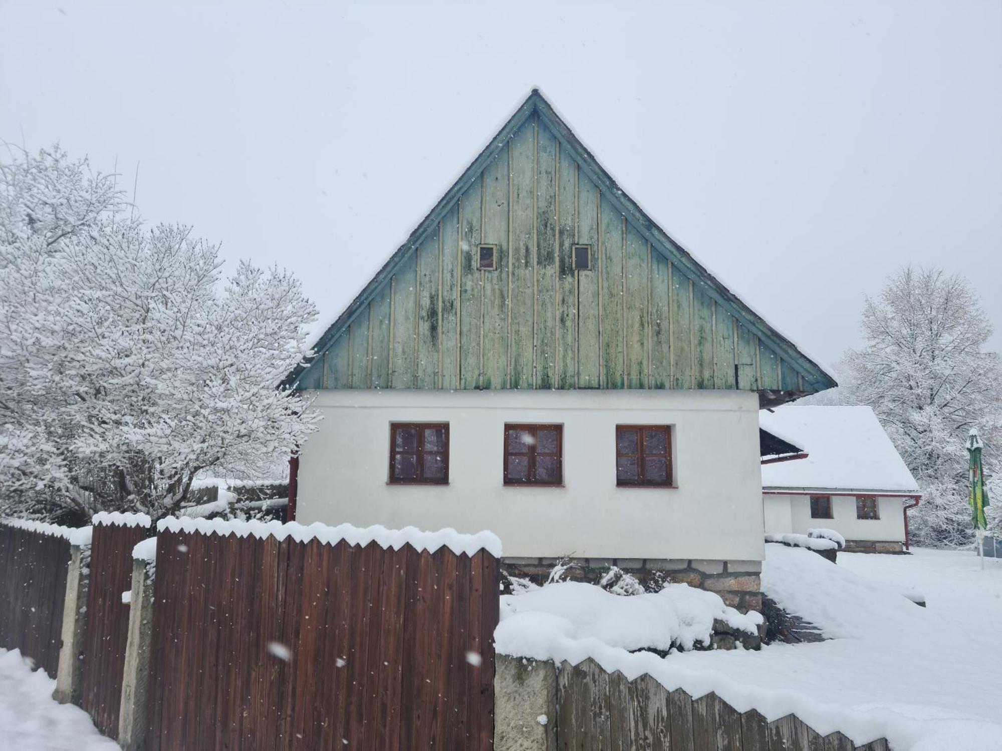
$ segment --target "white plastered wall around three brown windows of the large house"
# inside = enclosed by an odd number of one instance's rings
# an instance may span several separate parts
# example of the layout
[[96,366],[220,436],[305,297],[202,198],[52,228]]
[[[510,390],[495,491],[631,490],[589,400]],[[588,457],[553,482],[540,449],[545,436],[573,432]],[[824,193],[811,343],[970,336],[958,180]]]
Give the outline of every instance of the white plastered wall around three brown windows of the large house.
[[[297,521],[491,530],[505,556],[761,560],[759,403],[733,391],[318,391]],[[448,422],[450,485],[387,484],[391,422]],[[502,482],[505,423],[564,426],[564,487]],[[673,426],[677,489],[616,487],[615,426]]]

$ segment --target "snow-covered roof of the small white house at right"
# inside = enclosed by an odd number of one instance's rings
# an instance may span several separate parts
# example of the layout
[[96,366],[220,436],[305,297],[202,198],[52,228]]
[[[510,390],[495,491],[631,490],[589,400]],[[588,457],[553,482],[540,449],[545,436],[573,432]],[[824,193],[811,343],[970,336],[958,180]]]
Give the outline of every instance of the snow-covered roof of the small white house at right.
[[764,489],[917,493],[918,485],[869,407],[764,410],[759,423],[807,459],[763,465]]

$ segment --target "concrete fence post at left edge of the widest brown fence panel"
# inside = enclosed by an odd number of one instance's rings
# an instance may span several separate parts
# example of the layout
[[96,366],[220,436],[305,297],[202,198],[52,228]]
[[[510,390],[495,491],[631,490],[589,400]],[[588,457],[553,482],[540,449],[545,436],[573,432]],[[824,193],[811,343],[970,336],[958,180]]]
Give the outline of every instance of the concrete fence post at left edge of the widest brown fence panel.
[[153,637],[153,569],[147,561],[132,562],[132,592],[128,612],[128,642],[118,710],[118,745],[141,751],[146,741],[149,709],[149,652]]

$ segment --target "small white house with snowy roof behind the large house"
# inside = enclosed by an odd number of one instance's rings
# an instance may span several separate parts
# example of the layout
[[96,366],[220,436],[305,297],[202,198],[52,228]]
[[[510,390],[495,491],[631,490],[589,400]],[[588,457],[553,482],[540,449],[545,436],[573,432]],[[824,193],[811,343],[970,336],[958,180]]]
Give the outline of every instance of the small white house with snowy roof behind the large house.
[[835,530],[851,552],[901,553],[908,546],[918,484],[873,410],[788,405],[763,412],[760,422],[798,447],[793,456],[763,461],[767,533]]

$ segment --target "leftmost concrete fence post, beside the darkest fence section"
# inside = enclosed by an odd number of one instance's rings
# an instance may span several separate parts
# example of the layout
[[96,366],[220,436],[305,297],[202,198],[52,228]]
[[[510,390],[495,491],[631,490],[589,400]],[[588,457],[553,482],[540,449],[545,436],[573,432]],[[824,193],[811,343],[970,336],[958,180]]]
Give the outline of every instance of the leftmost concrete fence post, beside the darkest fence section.
[[71,545],[66,572],[66,599],[60,633],[59,667],[52,698],[60,704],[79,706],[83,690],[83,640],[87,634],[87,588],[90,581],[90,546]]

